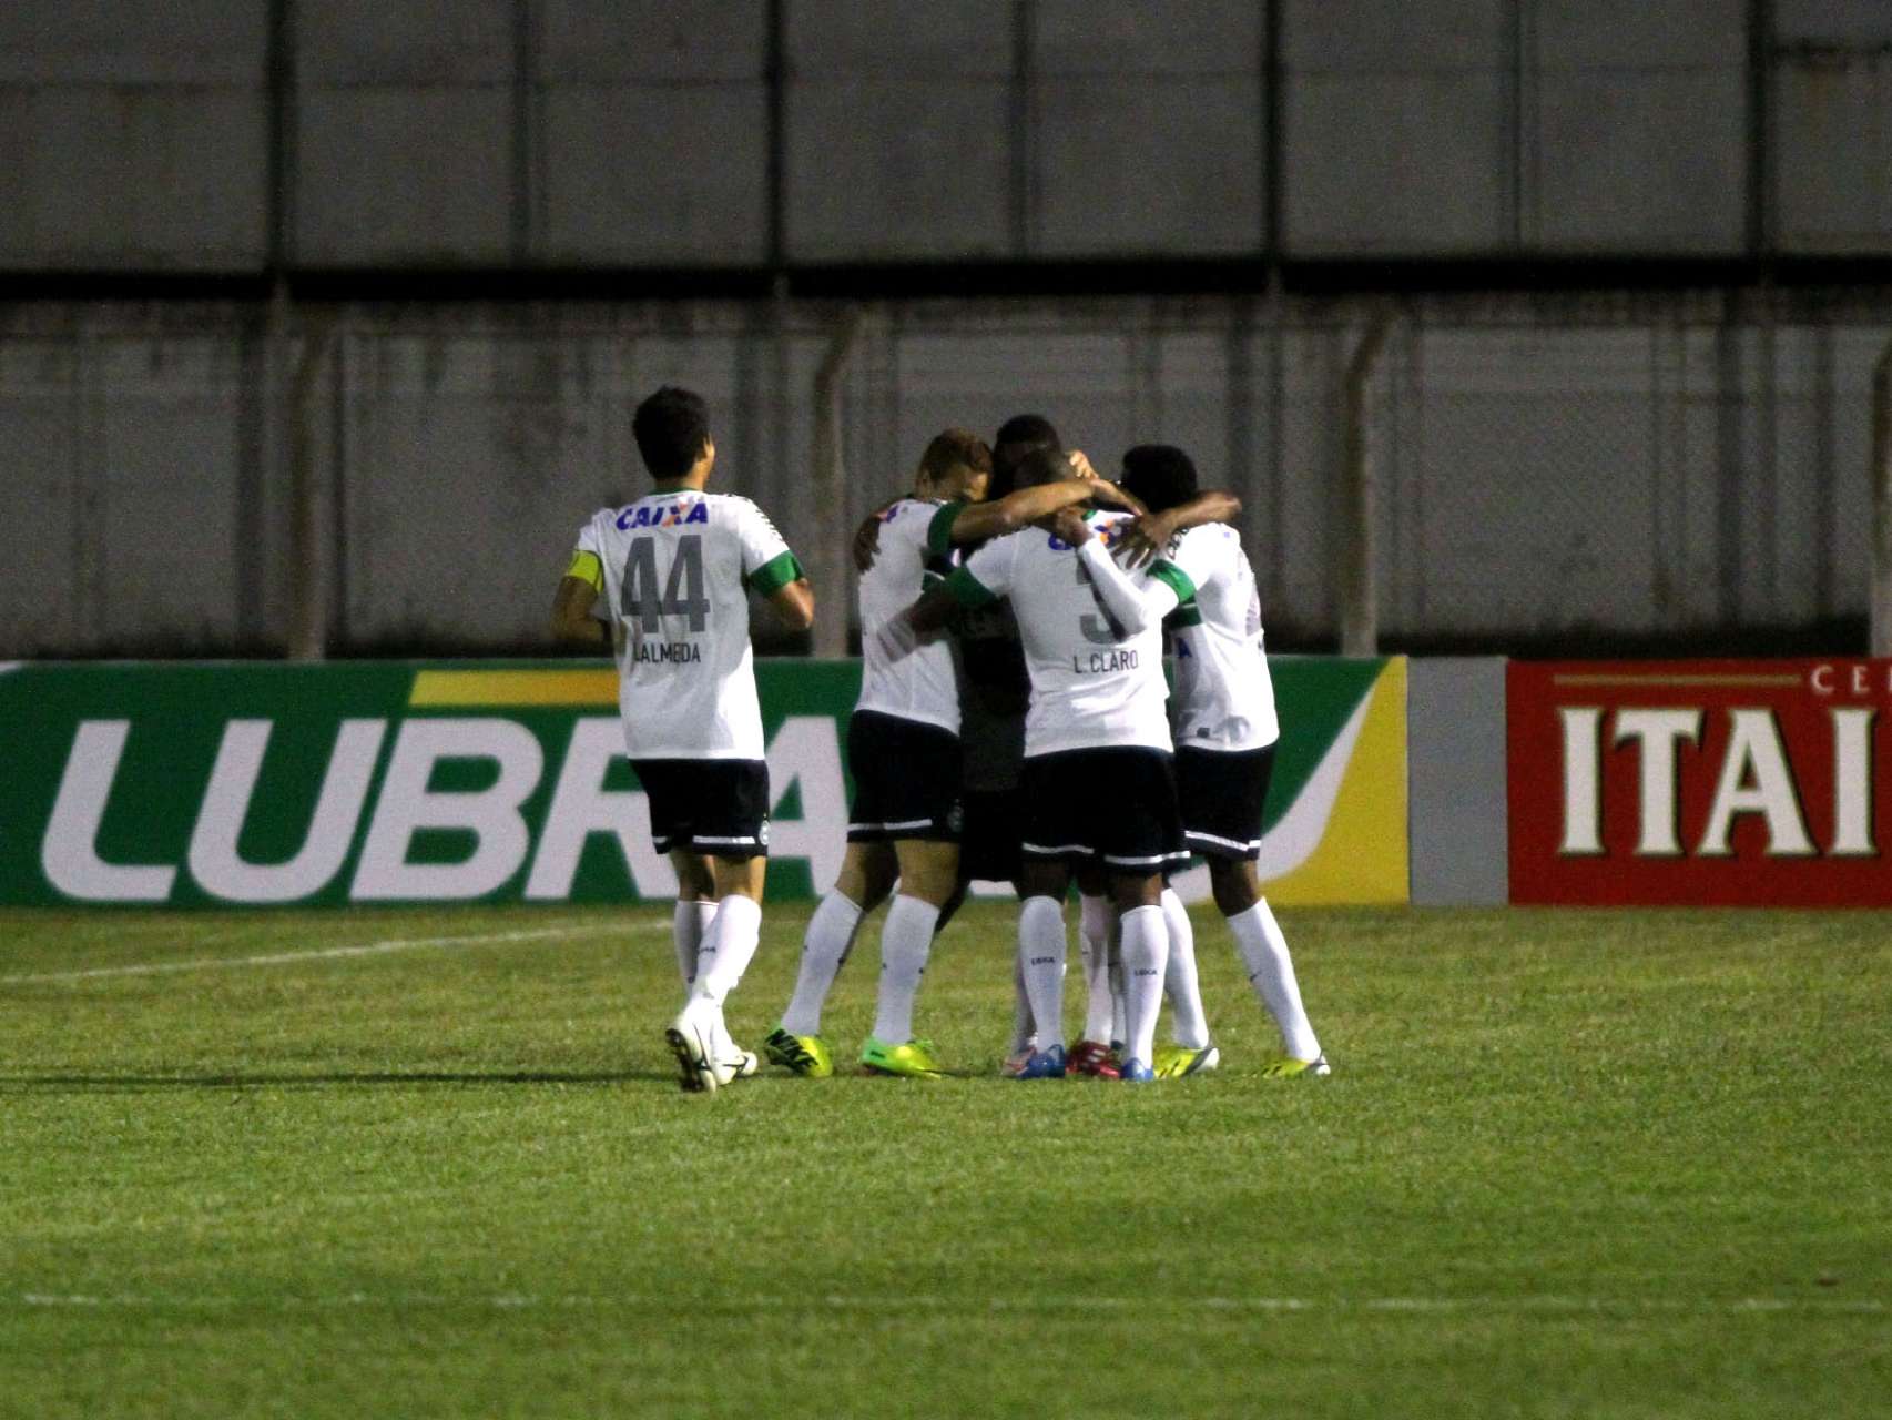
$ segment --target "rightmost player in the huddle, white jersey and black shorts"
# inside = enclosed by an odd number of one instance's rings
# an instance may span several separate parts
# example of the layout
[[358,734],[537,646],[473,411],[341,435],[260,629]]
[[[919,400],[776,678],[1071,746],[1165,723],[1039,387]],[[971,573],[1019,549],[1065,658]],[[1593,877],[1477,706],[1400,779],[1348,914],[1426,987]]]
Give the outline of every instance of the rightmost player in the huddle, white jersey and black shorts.
[[[1122,540],[1128,562],[1162,557],[1182,576],[1148,589],[1152,615],[1173,612],[1175,691],[1171,719],[1177,744],[1177,793],[1188,846],[1207,858],[1215,905],[1228,918],[1249,983],[1281,1030],[1285,1055],[1264,1075],[1287,1079],[1326,1075],[1328,1062],[1302,1005],[1287,937],[1262,896],[1254,860],[1262,844],[1262,801],[1273,771],[1281,721],[1262,649],[1262,610],[1254,572],[1230,526],[1182,532],[1169,521],[1198,498],[1196,464],[1169,445],[1139,445],[1124,454],[1124,487],[1143,498],[1150,517]],[[1186,583],[1184,583],[1186,579]],[[1179,604],[1171,604],[1179,602]],[[1124,612],[1126,623],[1135,621]],[[1194,949],[1188,913],[1175,892],[1165,894],[1171,928],[1171,971],[1186,962],[1194,990]],[[1177,1005],[1177,1045],[1158,1058],[1158,1072],[1182,1075],[1213,1068],[1200,998],[1194,1019],[1186,992]]]

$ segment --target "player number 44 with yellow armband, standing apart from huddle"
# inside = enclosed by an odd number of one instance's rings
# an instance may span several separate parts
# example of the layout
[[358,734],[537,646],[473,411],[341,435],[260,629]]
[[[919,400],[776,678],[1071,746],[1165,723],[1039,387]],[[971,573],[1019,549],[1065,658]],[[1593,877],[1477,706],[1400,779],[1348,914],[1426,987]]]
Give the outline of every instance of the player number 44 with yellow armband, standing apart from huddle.
[[619,665],[624,748],[651,837],[677,871],[672,918],[685,1005],[664,1038],[683,1089],[755,1074],[723,1022],[762,926],[768,763],[749,651],[749,593],[800,630],[814,593],[795,553],[747,498],[704,492],[715,441],[702,398],[664,386],[632,420],[655,488],[600,509],[558,583],[552,630],[598,644],[602,598]]

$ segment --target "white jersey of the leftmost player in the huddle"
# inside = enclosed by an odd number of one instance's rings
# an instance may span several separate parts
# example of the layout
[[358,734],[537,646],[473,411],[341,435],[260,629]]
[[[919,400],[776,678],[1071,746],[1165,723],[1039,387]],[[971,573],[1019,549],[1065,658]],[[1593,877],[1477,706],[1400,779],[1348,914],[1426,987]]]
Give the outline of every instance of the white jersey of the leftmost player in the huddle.
[[952,521],[963,504],[901,498],[880,515],[874,566],[861,574],[861,699],[855,710],[918,719],[959,733],[959,682],[952,640],[940,636],[897,661],[876,632],[901,615],[935,576],[952,570]]

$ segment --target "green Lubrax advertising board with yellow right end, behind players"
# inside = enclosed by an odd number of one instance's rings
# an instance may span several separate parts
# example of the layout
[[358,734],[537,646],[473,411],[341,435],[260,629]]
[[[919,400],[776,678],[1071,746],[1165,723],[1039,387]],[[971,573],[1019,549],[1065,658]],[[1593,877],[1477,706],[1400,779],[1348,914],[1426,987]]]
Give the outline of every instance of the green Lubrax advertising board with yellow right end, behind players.
[[[857,661],[759,661],[768,890],[840,869]],[[1406,663],[1283,659],[1262,873],[1408,899]],[[581,663],[26,665],[0,672],[0,903],[619,903],[675,892]],[[1207,873],[1184,875],[1207,892]]]

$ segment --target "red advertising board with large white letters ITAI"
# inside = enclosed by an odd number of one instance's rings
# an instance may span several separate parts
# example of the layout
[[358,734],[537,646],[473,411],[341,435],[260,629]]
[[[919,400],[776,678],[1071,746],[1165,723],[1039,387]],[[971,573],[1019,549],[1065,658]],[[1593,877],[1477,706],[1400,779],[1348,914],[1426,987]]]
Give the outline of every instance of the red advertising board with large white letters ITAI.
[[1892,661],[1512,665],[1519,903],[1892,905]]

